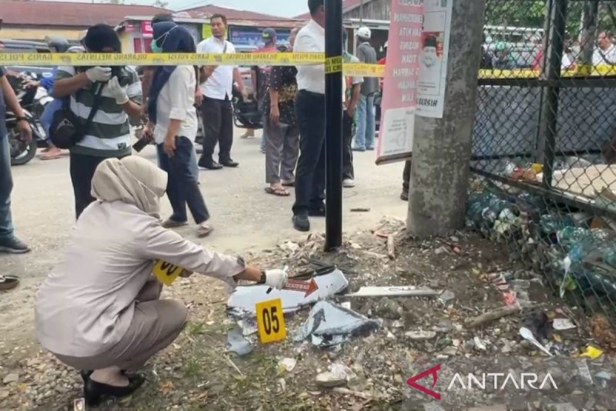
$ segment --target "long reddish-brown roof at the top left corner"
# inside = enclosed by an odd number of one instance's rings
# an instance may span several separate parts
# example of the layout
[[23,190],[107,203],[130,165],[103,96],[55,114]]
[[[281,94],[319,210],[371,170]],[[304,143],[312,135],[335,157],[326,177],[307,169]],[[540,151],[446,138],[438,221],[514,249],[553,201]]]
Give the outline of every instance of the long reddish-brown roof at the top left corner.
[[0,16],[4,25],[78,26],[99,23],[115,26],[127,15],[155,15],[169,10],[132,4],[76,3],[3,0]]

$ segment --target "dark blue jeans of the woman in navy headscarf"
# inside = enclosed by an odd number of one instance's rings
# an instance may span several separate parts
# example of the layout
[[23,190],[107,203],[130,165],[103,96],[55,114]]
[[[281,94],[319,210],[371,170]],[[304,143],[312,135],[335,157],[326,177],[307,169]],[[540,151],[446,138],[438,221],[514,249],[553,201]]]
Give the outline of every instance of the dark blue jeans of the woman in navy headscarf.
[[208,221],[208,208],[199,190],[199,185],[193,173],[195,157],[193,145],[186,137],[176,137],[176,151],[169,157],[163,150],[163,145],[156,146],[160,168],[169,175],[167,181],[167,197],[173,208],[172,221],[188,221],[186,205],[190,208],[195,222],[201,224]]

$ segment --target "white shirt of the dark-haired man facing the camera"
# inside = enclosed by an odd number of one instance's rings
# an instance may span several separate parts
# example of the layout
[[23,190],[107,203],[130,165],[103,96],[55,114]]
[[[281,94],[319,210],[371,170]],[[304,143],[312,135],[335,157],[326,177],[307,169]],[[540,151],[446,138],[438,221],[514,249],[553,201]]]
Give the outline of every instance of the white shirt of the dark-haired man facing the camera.
[[[226,49],[225,49],[226,44]],[[197,46],[198,53],[235,53],[233,43],[210,37],[201,41]],[[235,66],[218,66],[205,83],[201,84],[203,96],[209,99],[225,100],[233,96],[233,70]]]

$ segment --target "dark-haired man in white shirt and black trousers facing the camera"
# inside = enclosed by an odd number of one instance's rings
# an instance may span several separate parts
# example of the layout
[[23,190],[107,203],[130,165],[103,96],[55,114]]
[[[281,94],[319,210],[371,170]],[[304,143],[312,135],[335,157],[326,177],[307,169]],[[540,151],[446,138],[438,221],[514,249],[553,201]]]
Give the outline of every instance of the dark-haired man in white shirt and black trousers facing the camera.
[[[214,14],[209,19],[212,26],[212,37],[205,39],[197,46],[198,53],[235,53],[235,47],[225,40],[227,33],[227,17]],[[218,170],[223,166],[237,167],[238,163],[231,159],[233,145],[233,83],[246,99],[244,83],[240,71],[235,66],[204,66],[200,74],[203,102],[203,154],[199,166],[210,170]],[[214,149],[219,144],[218,163],[214,161]]]

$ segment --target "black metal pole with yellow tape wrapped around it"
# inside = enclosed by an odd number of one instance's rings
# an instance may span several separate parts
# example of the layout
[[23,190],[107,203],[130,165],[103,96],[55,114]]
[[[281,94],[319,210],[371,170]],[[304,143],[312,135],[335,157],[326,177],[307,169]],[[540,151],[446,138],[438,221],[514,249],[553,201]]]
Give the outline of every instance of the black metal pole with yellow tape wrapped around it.
[[325,0],[325,251],[342,245],[342,0]]

